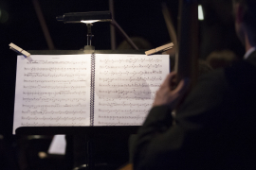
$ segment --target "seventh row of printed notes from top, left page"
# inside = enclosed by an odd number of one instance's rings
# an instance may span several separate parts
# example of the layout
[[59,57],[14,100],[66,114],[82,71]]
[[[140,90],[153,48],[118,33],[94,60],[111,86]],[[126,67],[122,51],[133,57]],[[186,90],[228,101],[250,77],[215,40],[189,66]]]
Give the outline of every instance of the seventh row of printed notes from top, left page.
[[23,101],[31,102],[31,101],[41,101],[41,102],[80,102],[85,101],[85,98],[49,98],[49,97],[33,97],[26,98],[23,97]]

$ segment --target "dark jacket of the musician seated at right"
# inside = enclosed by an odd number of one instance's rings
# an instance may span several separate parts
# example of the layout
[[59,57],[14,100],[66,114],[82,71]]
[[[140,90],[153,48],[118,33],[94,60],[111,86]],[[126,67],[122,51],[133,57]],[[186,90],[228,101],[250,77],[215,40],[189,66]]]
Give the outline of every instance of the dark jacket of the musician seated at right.
[[155,107],[138,130],[135,169],[256,169],[256,52],[202,76],[176,113]]

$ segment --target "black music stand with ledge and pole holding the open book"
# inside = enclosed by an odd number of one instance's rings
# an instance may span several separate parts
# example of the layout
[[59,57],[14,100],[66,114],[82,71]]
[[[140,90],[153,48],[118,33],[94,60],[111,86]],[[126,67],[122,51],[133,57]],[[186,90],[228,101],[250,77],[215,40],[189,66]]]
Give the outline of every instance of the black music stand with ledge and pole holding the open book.
[[[76,55],[76,54],[144,54],[145,50],[30,50],[31,55]],[[94,134],[136,134],[139,126],[119,127],[18,127],[18,135],[84,134],[88,136],[87,146],[93,148]],[[94,150],[88,150],[88,167],[94,169]]]

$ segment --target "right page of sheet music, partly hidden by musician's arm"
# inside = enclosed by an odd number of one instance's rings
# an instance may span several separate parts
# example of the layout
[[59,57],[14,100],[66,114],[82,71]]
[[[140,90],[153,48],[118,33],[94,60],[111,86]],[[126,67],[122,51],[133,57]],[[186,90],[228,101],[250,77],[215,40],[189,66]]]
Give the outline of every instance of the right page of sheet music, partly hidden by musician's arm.
[[95,65],[94,126],[140,126],[169,73],[169,56],[96,54]]

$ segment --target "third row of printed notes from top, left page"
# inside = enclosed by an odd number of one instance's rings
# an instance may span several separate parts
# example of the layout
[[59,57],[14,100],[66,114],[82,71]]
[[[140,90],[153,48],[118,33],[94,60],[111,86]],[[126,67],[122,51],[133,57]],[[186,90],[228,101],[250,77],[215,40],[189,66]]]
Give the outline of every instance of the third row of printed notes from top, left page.
[[49,76],[49,77],[74,77],[74,76],[86,76],[85,74],[43,74],[43,73],[28,73],[28,74],[24,74],[24,76],[31,76],[31,77],[35,77],[35,76]]

